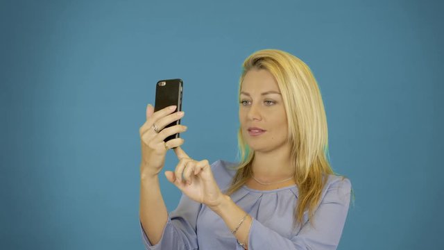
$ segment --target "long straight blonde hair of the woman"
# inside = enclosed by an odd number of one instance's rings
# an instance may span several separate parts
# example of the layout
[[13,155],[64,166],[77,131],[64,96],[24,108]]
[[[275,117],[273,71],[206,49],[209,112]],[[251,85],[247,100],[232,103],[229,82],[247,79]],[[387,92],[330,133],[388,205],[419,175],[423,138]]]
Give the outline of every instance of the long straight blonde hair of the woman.
[[[264,49],[256,51],[244,61],[239,81],[239,96],[246,73],[250,69],[266,69],[278,83],[288,122],[288,143],[291,146],[295,181],[298,186],[298,201],[295,222],[302,224],[308,210],[309,220],[321,199],[327,174],[334,174],[327,160],[327,117],[321,92],[311,70],[305,63],[290,53]],[[241,161],[227,193],[232,194],[252,175],[255,152],[244,141],[239,128],[237,135]]]

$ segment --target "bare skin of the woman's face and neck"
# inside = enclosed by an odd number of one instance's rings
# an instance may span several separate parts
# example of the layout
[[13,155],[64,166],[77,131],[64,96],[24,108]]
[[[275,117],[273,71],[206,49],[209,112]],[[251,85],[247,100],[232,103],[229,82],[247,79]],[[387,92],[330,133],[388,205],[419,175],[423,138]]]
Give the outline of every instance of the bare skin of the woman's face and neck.
[[[293,176],[291,149],[287,143],[287,114],[273,75],[266,69],[251,69],[244,77],[240,102],[242,134],[248,146],[255,151],[255,177],[261,182],[273,183]],[[266,132],[251,136],[248,134],[249,127],[262,128]],[[254,180],[247,182],[248,187],[258,190],[273,190],[293,184],[293,180],[267,186]]]

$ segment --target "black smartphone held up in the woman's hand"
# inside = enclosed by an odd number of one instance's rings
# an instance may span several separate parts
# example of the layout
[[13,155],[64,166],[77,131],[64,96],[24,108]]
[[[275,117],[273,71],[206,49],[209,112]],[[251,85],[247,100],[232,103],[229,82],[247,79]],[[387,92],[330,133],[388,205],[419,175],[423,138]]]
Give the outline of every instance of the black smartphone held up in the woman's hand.
[[[183,81],[182,79],[169,79],[160,80],[155,85],[155,104],[154,112],[161,110],[162,108],[167,108],[168,106],[176,105],[177,108],[174,112],[182,111],[182,89]],[[180,119],[176,122],[171,122],[165,126],[168,128],[180,124]],[[168,142],[171,139],[179,138],[179,134],[170,135],[165,138],[164,142]]]

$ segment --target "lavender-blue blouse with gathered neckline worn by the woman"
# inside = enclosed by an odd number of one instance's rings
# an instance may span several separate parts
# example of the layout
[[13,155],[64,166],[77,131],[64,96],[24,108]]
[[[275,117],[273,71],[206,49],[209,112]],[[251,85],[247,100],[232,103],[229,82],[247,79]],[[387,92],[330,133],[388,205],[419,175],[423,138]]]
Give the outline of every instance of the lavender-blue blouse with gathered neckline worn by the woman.
[[[218,160],[212,171],[219,188],[227,190],[235,165]],[[293,226],[298,199],[296,185],[278,190],[253,190],[246,186],[230,197],[253,217],[248,249],[336,249],[341,239],[350,203],[348,178],[329,175],[322,201],[314,213],[313,225],[304,215],[302,226]],[[146,249],[237,249],[243,250],[225,222],[207,206],[182,194],[176,210],[169,213],[162,239],[152,245],[140,224]]]

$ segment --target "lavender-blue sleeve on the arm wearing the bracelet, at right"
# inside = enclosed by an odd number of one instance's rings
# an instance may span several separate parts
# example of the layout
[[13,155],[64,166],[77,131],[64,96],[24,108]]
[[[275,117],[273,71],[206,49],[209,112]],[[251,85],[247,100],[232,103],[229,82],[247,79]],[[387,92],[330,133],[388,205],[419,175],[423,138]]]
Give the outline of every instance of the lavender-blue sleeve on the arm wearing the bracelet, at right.
[[313,225],[306,222],[293,238],[262,225],[256,219],[250,228],[248,249],[336,249],[350,205],[351,184],[347,178],[330,183],[313,216]]

